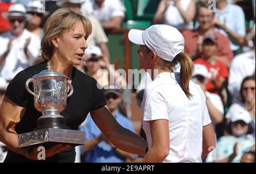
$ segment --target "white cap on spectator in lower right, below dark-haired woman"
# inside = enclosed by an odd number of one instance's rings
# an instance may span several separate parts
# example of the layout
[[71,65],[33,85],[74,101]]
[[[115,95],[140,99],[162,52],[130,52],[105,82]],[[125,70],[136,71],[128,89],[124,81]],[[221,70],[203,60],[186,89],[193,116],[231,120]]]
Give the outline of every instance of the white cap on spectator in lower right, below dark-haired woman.
[[246,111],[243,108],[237,108],[236,111],[232,112],[232,114],[230,115],[230,121],[236,122],[238,120],[242,120],[246,124],[249,124],[252,121],[250,112]]

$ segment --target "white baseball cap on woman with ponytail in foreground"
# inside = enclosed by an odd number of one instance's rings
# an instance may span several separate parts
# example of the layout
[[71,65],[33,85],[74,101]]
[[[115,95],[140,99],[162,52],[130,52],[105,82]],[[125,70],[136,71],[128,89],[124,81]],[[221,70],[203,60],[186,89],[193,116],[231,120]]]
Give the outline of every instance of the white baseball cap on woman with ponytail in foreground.
[[174,27],[167,25],[153,25],[145,31],[131,29],[129,40],[138,45],[147,47],[157,56],[172,61],[180,52],[184,52],[184,37]]

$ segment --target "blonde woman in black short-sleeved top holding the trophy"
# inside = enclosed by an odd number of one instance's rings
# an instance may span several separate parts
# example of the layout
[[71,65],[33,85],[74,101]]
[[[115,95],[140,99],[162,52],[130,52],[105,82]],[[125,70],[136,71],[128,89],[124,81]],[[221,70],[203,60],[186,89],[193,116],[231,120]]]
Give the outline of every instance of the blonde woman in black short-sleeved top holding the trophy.
[[[118,124],[105,108],[106,97],[104,91],[97,88],[96,80],[73,67],[80,65],[91,32],[89,20],[72,10],[57,10],[47,19],[41,44],[45,61],[16,75],[7,87],[0,109],[0,141],[9,148],[5,162],[38,162],[37,147],[31,151],[18,148],[17,134],[36,127],[40,113],[36,111],[25,83],[46,69],[47,61],[51,62],[53,70],[67,75],[74,88],[61,113],[69,128],[77,130],[90,112],[95,124],[114,146],[131,154],[145,155],[147,142]],[[75,147],[58,144],[46,148],[43,162],[75,162],[75,156]]]

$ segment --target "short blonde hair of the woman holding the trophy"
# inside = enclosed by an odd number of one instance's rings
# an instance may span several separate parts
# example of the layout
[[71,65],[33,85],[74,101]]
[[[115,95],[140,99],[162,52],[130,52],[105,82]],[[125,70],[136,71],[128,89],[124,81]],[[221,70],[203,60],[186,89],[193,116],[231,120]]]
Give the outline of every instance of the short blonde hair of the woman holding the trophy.
[[69,9],[56,10],[44,24],[44,36],[41,41],[42,58],[49,61],[53,55],[54,46],[52,39],[70,31],[77,23],[82,22],[85,33],[89,36],[92,33],[92,24],[85,16],[77,14]]

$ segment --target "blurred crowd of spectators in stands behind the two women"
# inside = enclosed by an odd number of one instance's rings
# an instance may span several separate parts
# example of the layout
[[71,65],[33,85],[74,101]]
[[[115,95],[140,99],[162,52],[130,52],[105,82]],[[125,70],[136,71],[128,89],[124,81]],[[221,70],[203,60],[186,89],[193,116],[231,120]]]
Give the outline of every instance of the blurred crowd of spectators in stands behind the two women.
[[[0,107],[14,76],[43,61],[44,23],[64,7],[92,22],[77,69],[104,87],[108,108],[122,126],[146,138],[140,105],[151,79],[143,74],[139,86],[127,89],[134,79],[117,71],[139,66],[138,46],[127,33],[167,24],[184,36],[185,53],[195,63],[192,80],[205,92],[216,131],[217,148],[204,162],[255,162],[255,0],[0,0]],[[80,129],[86,145],[77,147],[77,162],[141,162],[114,147],[90,116]],[[0,162],[6,151],[0,142]]]

